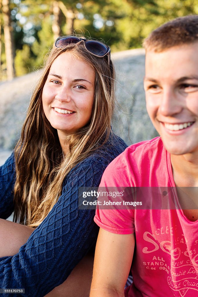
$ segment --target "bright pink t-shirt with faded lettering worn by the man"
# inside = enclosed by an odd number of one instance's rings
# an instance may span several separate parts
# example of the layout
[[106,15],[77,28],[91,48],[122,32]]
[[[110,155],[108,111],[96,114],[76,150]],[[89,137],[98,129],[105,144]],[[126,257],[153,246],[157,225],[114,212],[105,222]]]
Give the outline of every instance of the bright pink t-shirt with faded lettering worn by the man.
[[[175,187],[170,154],[161,138],[128,147],[106,168],[100,187]],[[100,209],[95,222],[118,234],[134,233],[130,297],[198,296],[198,221],[180,209]]]

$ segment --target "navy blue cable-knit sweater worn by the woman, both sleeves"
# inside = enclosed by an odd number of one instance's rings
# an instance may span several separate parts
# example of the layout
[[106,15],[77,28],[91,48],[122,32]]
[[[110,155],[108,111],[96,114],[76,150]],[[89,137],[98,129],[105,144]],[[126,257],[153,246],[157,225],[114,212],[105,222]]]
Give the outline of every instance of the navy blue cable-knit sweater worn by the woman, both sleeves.
[[[18,254],[0,258],[0,288],[25,288],[25,294],[12,296],[41,297],[65,281],[98,235],[95,211],[78,210],[78,187],[97,187],[107,165],[125,148],[124,141],[113,136],[113,143],[109,141],[70,171],[58,202]],[[0,218],[6,219],[14,210],[14,183],[12,154],[0,167]]]

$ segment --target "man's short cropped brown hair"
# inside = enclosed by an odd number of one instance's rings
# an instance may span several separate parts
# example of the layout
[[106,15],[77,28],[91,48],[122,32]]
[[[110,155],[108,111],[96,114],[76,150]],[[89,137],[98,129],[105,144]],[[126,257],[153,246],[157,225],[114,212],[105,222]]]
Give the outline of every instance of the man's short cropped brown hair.
[[145,50],[161,52],[174,46],[198,41],[198,15],[171,20],[155,29],[144,40]]

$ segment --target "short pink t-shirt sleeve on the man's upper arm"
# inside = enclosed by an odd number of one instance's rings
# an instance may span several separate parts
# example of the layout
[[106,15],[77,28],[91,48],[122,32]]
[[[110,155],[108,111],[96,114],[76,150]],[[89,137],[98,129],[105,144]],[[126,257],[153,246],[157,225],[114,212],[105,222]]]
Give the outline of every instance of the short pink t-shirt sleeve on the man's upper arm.
[[[122,162],[122,156],[118,156],[106,168],[103,173],[99,189],[109,187],[111,190],[119,190],[119,187],[130,187],[126,171],[126,164]],[[131,234],[135,232],[133,209],[96,209],[95,223],[111,233]]]

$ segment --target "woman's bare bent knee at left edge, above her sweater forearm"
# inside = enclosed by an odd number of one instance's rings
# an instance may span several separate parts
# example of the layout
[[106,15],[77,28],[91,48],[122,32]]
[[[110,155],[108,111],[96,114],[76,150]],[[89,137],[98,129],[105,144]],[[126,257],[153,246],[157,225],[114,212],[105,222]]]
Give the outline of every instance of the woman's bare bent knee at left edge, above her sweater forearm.
[[33,231],[34,228],[0,219],[0,257],[17,254]]

